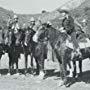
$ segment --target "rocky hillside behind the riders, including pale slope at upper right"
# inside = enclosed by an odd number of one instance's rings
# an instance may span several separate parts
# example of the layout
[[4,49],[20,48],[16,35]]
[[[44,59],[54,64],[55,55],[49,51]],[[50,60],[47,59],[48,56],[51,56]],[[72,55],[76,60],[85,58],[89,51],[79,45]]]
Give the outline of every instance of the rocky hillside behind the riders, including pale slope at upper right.
[[[18,14],[20,24],[27,23],[30,18],[33,16],[37,20],[38,17],[41,18],[42,22],[46,22],[50,20],[55,27],[60,27],[60,13],[57,11],[58,9],[68,8],[71,14],[74,17],[90,17],[90,0],[70,0],[69,2],[61,5],[59,8],[52,12],[46,12],[41,14]],[[9,16],[13,16],[14,12],[3,9],[0,7],[0,26],[6,26],[7,20]]]

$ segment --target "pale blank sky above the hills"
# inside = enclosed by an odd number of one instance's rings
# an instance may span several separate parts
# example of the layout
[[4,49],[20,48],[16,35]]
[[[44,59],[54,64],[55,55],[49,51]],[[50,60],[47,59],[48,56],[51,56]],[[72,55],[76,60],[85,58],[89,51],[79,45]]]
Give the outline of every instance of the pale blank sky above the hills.
[[42,10],[53,11],[70,0],[0,0],[0,7],[19,14],[36,14]]

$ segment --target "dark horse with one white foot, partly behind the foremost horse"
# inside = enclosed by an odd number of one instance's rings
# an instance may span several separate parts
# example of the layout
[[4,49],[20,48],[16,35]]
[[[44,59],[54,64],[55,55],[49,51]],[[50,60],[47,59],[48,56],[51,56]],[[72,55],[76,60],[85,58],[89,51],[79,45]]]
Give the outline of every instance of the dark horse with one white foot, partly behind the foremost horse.
[[[44,60],[47,59],[47,42],[44,40],[43,37],[38,42],[35,42],[33,40],[34,34],[35,34],[35,31],[33,29],[29,29],[25,33],[25,45],[28,47],[31,53],[32,68],[33,68],[33,57],[34,57],[36,61],[36,67],[37,67],[36,74],[42,77],[44,76],[44,72],[43,72],[44,71]],[[26,55],[28,54],[26,53]],[[27,68],[27,62],[26,62],[26,68]]]

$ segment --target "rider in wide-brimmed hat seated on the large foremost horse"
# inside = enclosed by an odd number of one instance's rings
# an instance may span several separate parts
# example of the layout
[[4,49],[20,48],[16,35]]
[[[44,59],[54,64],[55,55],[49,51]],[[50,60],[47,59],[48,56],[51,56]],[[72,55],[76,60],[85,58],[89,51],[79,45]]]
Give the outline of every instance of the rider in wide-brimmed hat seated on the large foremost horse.
[[79,44],[76,39],[74,19],[70,16],[67,10],[61,10],[60,13],[64,17],[64,19],[62,20],[62,27],[66,31],[66,33],[71,36],[71,40],[74,44],[74,52],[77,54],[77,56],[81,57]]

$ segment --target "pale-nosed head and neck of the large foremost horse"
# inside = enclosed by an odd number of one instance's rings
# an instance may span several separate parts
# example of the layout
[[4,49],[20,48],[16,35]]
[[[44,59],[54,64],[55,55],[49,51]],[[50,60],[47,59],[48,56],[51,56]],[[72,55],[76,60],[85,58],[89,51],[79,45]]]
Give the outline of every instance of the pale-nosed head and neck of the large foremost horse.
[[49,26],[47,23],[42,24],[42,27],[35,33],[33,41],[38,42],[40,40],[48,40],[54,47],[57,42],[64,43],[68,35],[62,33],[59,30]]

